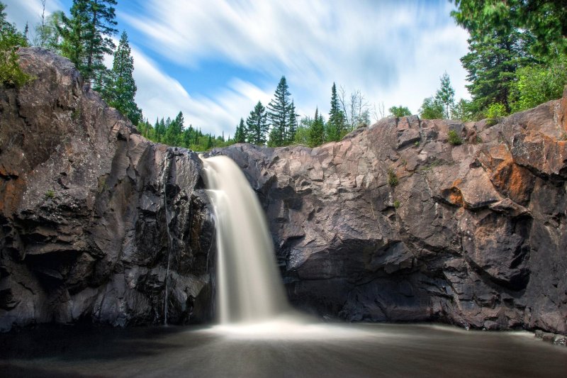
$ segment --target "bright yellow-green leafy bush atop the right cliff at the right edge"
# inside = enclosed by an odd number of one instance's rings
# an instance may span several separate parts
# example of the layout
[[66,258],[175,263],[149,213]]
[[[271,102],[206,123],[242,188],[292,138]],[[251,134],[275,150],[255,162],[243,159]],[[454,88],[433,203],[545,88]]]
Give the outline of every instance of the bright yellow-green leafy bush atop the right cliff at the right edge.
[[566,84],[567,55],[555,57],[546,65],[520,68],[510,94],[512,112],[561,98]]

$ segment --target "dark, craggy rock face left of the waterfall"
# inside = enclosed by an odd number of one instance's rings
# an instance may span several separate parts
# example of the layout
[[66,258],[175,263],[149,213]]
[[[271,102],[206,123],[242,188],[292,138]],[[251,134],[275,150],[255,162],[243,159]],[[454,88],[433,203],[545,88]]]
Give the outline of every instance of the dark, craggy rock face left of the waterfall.
[[0,89],[0,330],[160,323],[166,295],[168,321],[210,318],[201,161],[142,138],[68,60],[20,62],[37,79]]

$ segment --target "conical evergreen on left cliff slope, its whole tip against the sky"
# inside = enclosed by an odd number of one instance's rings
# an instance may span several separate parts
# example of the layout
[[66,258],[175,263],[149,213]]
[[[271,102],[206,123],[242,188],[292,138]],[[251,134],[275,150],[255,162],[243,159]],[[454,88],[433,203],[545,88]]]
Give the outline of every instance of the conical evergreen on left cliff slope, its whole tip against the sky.
[[130,55],[128,35],[123,32],[118,48],[114,52],[110,77],[106,80],[106,85],[103,86],[102,94],[110,106],[118,109],[132,123],[137,124],[142,119],[142,111],[137,107],[134,100],[137,87],[132,76],[133,71],[134,59]]

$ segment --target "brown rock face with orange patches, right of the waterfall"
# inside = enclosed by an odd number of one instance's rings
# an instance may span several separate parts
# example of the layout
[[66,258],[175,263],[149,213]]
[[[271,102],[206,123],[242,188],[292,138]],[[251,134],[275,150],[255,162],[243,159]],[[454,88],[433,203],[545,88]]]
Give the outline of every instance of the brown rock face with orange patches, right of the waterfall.
[[385,118],[319,148],[213,155],[257,191],[299,308],[567,333],[566,135],[567,93],[493,126]]

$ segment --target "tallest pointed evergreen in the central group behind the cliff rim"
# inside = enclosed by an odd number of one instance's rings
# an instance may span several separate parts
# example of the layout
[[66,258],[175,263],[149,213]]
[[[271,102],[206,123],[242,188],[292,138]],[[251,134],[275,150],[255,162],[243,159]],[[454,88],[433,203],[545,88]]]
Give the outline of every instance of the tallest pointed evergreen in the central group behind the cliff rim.
[[288,91],[286,77],[282,76],[278,87],[276,87],[274,99],[272,99],[267,106],[268,119],[271,123],[268,145],[271,147],[279,147],[286,141],[291,105],[289,102],[289,96],[291,96],[291,94]]

